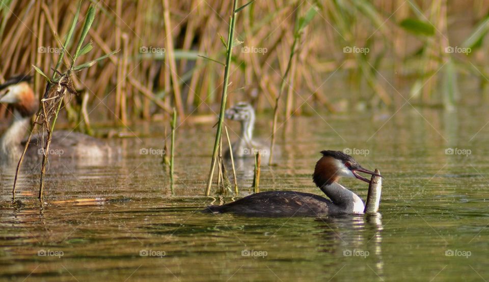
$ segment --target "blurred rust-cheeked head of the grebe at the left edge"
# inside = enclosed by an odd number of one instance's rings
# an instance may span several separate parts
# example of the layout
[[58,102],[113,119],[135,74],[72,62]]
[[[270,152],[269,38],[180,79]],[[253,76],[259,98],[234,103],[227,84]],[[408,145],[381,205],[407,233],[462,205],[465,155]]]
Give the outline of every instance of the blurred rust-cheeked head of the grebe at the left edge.
[[36,113],[37,101],[34,91],[29,86],[31,76],[18,75],[9,78],[4,84],[0,85],[0,103],[7,103],[22,116],[31,116]]

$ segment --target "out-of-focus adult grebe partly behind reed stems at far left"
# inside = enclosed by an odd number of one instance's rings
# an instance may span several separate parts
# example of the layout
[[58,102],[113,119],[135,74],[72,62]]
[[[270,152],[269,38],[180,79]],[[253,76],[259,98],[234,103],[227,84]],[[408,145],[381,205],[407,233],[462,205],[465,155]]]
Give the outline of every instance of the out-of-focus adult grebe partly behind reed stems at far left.
[[[16,165],[24,149],[26,140],[23,140],[31,128],[31,118],[36,114],[38,103],[34,91],[29,86],[31,76],[19,75],[10,78],[0,85],[0,103],[11,104],[13,118],[9,128],[0,138],[0,165]],[[6,90],[5,90],[6,89]],[[33,135],[31,145],[24,156],[25,163],[38,162],[42,160],[42,150],[39,145],[44,146],[46,136]],[[43,142],[44,141],[44,142]],[[77,132],[55,131],[52,134],[49,151],[57,152],[61,158],[104,158],[112,153],[112,148],[106,143]],[[57,158],[50,158],[56,160]]]

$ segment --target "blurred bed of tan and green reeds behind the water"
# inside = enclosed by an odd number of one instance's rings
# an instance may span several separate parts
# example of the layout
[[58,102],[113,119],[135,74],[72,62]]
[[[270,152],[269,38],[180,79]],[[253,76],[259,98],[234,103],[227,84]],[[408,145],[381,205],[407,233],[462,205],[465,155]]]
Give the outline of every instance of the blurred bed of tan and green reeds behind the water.
[[[56,37],[67,34],[77,4],[1,2],[0,82],[14,74],[33,74],[41,97],[45,82],[32,65],[45,72],[55,67],[61,53]],[[128,124],[171,118],[173,107],[180,117],[218,113],[222,66],[201,56],[225,61],[222,39],[228,35],[232,1],[85,0],[80,13],[86,14],[90,4],[100,13],[88,34],[93,51],[83,59],[121,52],[73,76],[74,87],[89,93],[88,114]],[[486,84],[489,70],[483,50],[489,3],[255,1],[237,18],[236,39],[243,43],[235,48],[231,64],[228,104],[249,101],[258,112],[275,108],[295,40],[296,15],[304,15],[312,6],[317,6],[318,16],[304,30],[285,97],[278,101],[282,120],[310,111],[309,105],[315,110],[340,111],[338,102],[345,99],[349,109],[359,103],[368,107],[401,104],[404,100],[390,85],[397,87],[400,77],[412,84],[413,103],[442,107],[458,99],[450,79],[457,73]],[[458,20],[467,13],[470,21]],[[75,33],[79,36],[80,30]],[[452,35],[454,39],[449,40]],[[460,48],[470,48],[470,52]],[[444,65],[448,68],[439,70]],[[332,91],[325,82],[332,74],[349,82],[350,89]],[[76,103],[66,99],[63,107],[67,110],[62,111],[74,126],[80,120],[80,113],[71,110]]]

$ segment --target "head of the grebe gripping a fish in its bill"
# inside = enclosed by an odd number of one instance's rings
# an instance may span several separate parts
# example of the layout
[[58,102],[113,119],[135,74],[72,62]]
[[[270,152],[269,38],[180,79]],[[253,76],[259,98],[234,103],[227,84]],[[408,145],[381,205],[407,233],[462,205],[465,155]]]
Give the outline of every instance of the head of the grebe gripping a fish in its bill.
[[[358,172],[381,176],[370,170],[364,169],[352,156],[340,151],[321,151],[322,158],[316,163],[313,181],[318,187],[331,184],[341,177],[354,177],[370,183],[370,180],[358,174]],[[382,176],[381,176],[382,177]]]

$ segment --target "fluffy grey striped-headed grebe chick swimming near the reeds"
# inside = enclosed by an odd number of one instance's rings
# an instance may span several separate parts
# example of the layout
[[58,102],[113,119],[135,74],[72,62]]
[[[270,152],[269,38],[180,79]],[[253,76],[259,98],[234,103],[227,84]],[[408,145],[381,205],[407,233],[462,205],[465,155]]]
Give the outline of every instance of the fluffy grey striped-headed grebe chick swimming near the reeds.
[[[269,154],[269,149],[253,140],[253,129],[255,126],[255,110],[253,106],[245,102],[239,102],[225,112],[225,117],[241,123],[241,133],[238,141],[232,144],[234,158],[254,157],[257,152],[262,156]],[[224,154],[230,157],[229,148]]]

